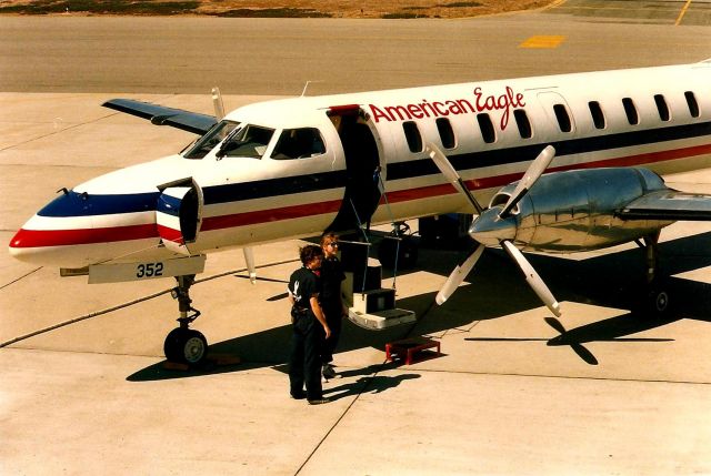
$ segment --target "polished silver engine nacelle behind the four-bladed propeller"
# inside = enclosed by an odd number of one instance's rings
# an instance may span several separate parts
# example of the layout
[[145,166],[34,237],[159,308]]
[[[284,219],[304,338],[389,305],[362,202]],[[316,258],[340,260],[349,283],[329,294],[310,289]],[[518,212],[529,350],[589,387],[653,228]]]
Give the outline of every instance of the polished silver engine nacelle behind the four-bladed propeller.
[[[501,209],[514,188],[512,183],[501,189],[490,207]],[[592,169],[542,175],[513,212],[513,242],[522,250],[565,253],[647,236],[672,222],[624,221],[617,212],[648,192],[665,189],[664,181],[647,169]]]

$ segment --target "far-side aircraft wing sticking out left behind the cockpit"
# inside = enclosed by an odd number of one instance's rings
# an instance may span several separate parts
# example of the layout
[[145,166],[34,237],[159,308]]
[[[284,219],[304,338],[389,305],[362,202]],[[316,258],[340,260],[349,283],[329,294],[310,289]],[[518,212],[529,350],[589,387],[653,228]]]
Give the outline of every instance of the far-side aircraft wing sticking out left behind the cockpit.
[[171,128],[200,135],[208,132],[218,122],[213,115],[167,108],[132,99],[111,99],[101,105],[148,119],[156,125],[170,125]]

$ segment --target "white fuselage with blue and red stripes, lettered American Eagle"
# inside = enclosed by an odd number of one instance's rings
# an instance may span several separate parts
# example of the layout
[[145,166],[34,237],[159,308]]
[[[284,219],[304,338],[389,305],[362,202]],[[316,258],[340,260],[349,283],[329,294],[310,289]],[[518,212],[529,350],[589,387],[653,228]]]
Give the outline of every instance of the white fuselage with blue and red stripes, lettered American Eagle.
[[[711,63],[286,99],[224,121],[259,128],[263,143],[250,143],[251,154],[188,151],[80,184],[30,219],[10,252],[82,267],[309,236],[354,224],[354,215],[382,223],[471,213],[427,142],[441,146],[480,202],[548,144],[557,150],[550,171],[708,168]],[[309,144],[296,144],[309,134]],[[286,152],[289,139],[309,153]]]

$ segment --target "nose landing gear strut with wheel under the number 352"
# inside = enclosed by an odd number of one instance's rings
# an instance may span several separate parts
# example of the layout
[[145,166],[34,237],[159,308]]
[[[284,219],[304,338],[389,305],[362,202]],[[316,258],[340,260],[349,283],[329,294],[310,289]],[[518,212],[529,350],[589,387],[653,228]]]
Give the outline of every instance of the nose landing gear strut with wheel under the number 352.
[[178,286],[173,288],[172,296],[178,300],[180,327],[168,334],[163,352],[170,362],[199,365],[208,355],[208,341],[202,333],[190,328],[190,324],[200,316],[200,311],[190,305],[190,286],[194,283],[196,276],[176,276],[176,280]]

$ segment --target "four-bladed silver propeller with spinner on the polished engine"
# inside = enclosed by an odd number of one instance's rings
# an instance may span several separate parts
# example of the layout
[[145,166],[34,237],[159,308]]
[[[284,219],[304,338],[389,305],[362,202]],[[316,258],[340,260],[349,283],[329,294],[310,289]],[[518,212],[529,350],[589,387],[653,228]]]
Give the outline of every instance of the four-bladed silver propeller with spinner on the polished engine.
[[[545,283],[543,283],[541,276],[538,275],[533,266],[531,266],[528,260],[523,256],[523,253],[521,253],[512,243],[512,240],[515,236],[517,223],[511,213],[514,206],[523,196],[525,196],[528,191],[531,190],[535,184],[535,181],[543,174],[548,165],[551,163],[555,156],[555,149],[551,145],[543,149],[533,163],[531,163],[529,170],[527,170],[523,175],[523,179],[521,179],[511,194],[511,198],[501,211],[498,211],[495,207],[483,210],[481,205],[479,205],[474,196],[464,185],[461,176],[459,176],[447,156],[435,144],[429,142],[427,144],[427,152],[447,180],[449,180],[457,190],[464,194],[479,212],[479,216],[474,219],[469,230],[469,234],[478,241],[479,245],[462,264],[454,267],[454,271],[452,271],[450,276],[447,278],[447,282],[437,294],[437,303],[440,305],[443,304],[474,267],[485,247],[481,240],[483,237],[495,237],[495,241],[501,244],[509,256],[511,256],[513,262],[519,266],[521,272],[523,272],[527,283],[531,286],[538,297],[555,316],[560,317],[560,304],[555,301],[555,297],[550,292]],[[477,240],[477,236],[479,236],[480,240]]]

